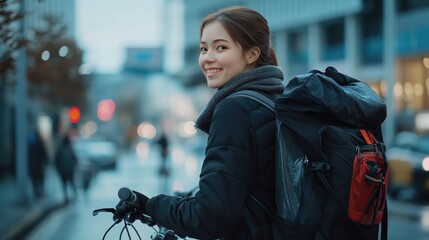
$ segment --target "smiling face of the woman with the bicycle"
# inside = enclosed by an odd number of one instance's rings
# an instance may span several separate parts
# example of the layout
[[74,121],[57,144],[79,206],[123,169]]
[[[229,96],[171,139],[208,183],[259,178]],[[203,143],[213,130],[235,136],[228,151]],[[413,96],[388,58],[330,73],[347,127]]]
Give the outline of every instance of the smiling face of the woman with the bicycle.
[[222,87],[248,67],[241,47],[219,22],[204,27],[198,62],[210,88]]

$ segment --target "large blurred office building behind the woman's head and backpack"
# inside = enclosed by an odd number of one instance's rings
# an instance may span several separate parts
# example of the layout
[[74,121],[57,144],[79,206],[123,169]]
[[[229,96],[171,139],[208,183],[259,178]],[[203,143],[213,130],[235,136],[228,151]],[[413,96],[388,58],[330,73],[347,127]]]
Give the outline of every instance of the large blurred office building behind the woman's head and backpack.
[[[185,83],[199,73],[199,24],[219,8],[242,5],[261,12],[286,79],[335,66],[370,84],[385,100],[385,142],[397,131],[420,131],[414,119],[429,112],[429,1],[407,0],[185,0]],[[187,81],[187,82],[186,82]],[[426,115],[427,116],[427,115]],[[420,121],[424,122],[424,121]],[[427,121],[429,122],[429,121]]]

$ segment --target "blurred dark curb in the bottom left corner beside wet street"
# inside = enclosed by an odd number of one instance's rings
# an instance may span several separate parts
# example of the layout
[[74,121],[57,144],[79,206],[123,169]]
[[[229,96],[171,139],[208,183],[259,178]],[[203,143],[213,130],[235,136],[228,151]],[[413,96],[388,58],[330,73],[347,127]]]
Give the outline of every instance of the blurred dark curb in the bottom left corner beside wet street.
[[65,206],[67,206],[66,203],[55,203],[34,208],[30,210],[30,212],[25,215],[19,223],[13,224],[12,227],[3,233],[0,233],[0,235],[5,240],[21,240],[45,218]]

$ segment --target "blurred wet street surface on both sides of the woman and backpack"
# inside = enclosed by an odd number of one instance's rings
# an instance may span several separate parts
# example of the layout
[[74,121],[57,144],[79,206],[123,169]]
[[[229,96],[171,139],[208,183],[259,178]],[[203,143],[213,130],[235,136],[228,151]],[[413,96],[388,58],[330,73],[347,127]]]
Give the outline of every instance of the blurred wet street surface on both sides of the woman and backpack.
[[[114,207],[118,202],[117,191],[123,186],[140,190],[148,196],[171,193],[173,189],[191,190],[197,182],[202,160],[193,154],[184,151],[179,154],[181,160],[172,161],[173,173],[167,183],[158,178],[158,152],[150,152],[146,159],[138,159],[132,152],[124,154],[116,171],[99,173],[86,196],[81,194],[75,203],[52,214],[26,239],[102,239],[105,231],[113,223],[112,216],[109,213],[92,216],[94,209]],[[195,165],[193,161],[196,159],[198,161]],[[189,174],[190,168],[196,169],[194,174]],[[429,239],[428,203],[415,203],[410,200],[389,200],[388,203],[389,239]],[[150,239],[150,235],[154,233],[152,228],[140,222],[136,222],[135,227],[142,239]],[[115,226],[106,239],[119,239],[121,228],[121,225]],[[125,233],[123,239],[128,239]],[[134,235],[132,239],[138,237]]]

